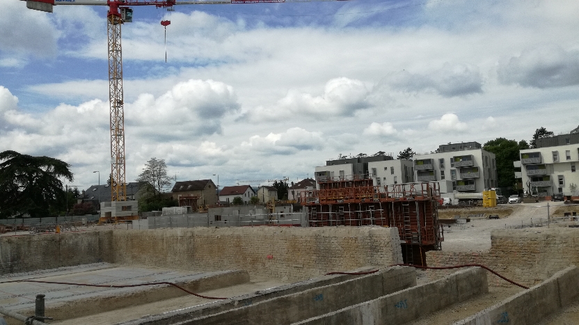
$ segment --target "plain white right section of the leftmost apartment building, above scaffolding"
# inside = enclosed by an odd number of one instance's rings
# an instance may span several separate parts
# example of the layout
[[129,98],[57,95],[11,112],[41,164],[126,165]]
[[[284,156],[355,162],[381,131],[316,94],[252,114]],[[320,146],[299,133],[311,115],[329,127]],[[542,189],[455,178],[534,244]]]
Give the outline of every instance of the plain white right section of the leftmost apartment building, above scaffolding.
[[414,182],[414,163],[411,160],[372,161],[368,163],[368,171],[374,186]]

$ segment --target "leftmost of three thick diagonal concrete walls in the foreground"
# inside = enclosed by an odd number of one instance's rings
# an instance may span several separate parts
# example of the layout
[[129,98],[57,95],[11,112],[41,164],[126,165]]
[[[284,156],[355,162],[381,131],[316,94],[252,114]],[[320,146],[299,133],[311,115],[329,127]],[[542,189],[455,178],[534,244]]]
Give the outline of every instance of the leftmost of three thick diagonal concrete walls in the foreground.
[[413,268],[393,267],[180,324],[292,324],[416,285]]

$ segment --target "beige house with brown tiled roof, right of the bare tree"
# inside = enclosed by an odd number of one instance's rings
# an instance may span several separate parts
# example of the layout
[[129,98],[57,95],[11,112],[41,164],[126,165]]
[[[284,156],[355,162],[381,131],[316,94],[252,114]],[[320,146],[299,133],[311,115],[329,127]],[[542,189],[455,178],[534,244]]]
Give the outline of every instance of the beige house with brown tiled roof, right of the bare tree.
[[217,187],[212,180],[175,182],[171,198],[184,205],[194,205],[194,202],[196,205],[214,205],[217,203]]

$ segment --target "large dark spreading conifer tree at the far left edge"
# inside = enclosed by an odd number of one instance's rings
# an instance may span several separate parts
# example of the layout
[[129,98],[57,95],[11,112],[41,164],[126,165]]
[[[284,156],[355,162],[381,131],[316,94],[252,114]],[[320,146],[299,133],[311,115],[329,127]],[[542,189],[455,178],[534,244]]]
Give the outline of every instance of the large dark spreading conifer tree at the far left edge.
[[51,157],[0,152],[0,218],[48,216],[66,200],[63,183],[74,179],[70,165]]

